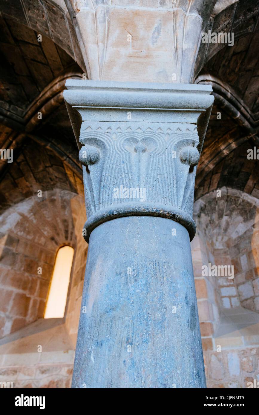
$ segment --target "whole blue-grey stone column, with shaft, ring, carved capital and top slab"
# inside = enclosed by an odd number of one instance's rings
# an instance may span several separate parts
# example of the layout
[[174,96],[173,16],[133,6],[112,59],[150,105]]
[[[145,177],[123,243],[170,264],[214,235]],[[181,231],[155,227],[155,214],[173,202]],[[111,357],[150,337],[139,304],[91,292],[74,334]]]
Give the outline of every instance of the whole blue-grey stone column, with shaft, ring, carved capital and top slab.
[[73,388],[204,388],[190,240],[209,85],[66,81],[89,243]]

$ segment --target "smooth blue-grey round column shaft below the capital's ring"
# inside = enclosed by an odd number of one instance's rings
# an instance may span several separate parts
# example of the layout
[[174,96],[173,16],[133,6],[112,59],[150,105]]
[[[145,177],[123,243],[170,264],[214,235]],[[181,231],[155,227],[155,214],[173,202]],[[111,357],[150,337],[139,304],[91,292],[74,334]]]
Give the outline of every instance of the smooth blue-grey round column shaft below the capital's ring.
[[133,216],[90,235],[73,388],[204,388],[190,238]]

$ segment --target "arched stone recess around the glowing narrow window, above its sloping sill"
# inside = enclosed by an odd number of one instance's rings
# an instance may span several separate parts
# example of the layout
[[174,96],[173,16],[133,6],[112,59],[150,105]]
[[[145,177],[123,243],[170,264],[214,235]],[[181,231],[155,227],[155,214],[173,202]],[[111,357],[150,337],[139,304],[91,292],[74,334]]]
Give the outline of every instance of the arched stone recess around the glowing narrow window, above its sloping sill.
[[[56,252],[67,244],[75,249],[70,284],[70,295],[74,295],[83,281],[86,260],[83,215],[83,197],[58,188],[24,199],[2,213],[1,337],[43,317]],[[72,314],[70,309],[70,319]]]

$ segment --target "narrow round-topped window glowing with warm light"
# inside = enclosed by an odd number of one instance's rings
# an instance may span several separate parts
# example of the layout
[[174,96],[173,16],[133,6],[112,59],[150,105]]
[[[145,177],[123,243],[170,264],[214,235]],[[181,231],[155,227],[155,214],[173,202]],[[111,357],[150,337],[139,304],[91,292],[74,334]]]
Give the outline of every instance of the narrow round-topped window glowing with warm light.
[[74,249],[66,245],[58,250],[46,301],[44,318],[64,317]]

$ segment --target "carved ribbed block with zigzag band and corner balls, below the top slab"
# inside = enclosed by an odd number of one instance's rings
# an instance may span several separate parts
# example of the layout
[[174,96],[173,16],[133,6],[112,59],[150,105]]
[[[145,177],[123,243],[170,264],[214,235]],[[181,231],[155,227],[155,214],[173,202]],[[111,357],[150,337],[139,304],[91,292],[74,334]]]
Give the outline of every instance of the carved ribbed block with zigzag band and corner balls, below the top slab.
[[[87,165],[84,181],[88,217],[117,204],[113,190],[121,185],[145,188],[147,202],[192,214],[199,159],[195,125],[83,122],[80,142],[83,147],[79,158]],[[121,199],[119,203],[129,201],[134,199]]]

